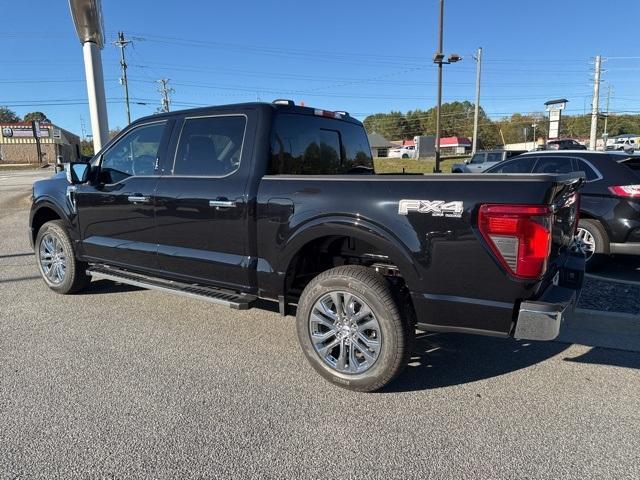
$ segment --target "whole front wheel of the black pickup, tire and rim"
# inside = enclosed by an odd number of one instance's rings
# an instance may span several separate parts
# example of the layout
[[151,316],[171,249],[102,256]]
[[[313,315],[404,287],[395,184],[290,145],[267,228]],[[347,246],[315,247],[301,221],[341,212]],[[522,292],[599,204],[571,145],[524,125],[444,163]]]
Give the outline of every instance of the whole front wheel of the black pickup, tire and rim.
[[73,243],[60,220],[45,223],[36,237],[36,260],[42,279],[57,293],[74,293],[90,281],[86,265],[76,259]]

